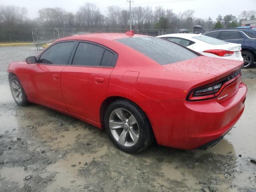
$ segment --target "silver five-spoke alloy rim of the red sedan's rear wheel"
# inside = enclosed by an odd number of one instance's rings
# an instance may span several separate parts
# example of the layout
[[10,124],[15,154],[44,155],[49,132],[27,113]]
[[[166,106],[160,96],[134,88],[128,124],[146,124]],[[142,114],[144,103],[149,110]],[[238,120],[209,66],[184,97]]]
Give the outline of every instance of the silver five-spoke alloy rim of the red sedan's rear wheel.
[[117,108],[109,117],[109,127],[116,141],[126,147],[134,146],[140,137],[138,122],[126,109]]

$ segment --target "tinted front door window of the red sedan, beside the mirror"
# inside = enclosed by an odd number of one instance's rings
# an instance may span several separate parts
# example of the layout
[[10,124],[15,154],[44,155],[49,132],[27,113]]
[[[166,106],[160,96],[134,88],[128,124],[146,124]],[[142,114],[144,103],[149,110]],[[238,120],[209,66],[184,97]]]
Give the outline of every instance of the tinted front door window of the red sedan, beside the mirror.
[[75,42],[60,42],[48,48],[39,58],[38,63],[67,65]]

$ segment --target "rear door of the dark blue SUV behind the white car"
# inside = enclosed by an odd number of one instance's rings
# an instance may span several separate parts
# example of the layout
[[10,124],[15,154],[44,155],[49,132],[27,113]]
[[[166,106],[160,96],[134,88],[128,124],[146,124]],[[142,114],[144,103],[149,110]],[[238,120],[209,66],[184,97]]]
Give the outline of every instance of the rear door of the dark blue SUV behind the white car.
[[239,31],[221,31],[219,39],[230,43],[244,44],[244,38]]

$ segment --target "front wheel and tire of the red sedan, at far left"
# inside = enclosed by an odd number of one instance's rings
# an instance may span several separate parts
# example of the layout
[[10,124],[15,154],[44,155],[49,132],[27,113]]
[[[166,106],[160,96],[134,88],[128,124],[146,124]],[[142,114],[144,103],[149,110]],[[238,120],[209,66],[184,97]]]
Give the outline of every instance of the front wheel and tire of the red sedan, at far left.
[[28,98],[17,76],[14,75],[10,78],[9,85],[10,85],[12,97],[16,102],[16,104],[19,106],[28,105],[29,103]]

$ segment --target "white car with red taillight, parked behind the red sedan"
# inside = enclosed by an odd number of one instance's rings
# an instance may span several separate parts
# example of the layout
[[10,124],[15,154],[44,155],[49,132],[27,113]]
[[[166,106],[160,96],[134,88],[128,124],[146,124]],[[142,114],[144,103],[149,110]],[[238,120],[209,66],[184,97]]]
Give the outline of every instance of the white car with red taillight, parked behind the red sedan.
[[241,44],[228,43],[201,34],[177,33],[157,37],[176,42],[205,56],[243,60]]

